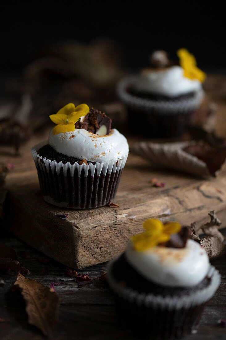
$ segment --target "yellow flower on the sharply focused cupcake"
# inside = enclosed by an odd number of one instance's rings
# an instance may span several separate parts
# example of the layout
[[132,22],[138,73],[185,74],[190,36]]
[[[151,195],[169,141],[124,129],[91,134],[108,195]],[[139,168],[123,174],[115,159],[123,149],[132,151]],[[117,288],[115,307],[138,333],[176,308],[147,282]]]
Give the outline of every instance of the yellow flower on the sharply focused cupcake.
[[53,129],[53,135],[74,131],[74,124],[79,118],[86,116],[88,112],[89,106],[86,104],[80,104],[76,107],[72,103],[65,105],[55,115],[49,116],[57,124]]

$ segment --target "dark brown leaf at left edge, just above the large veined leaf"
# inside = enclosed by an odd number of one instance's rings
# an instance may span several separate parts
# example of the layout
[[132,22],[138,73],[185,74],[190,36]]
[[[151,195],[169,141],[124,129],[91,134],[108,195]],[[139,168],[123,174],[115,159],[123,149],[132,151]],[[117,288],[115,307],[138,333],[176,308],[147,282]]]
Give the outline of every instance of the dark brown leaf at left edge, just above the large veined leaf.
[[0,244],[0,270],[30,274],[30,271],[20,263],[13,247],[4,244]]

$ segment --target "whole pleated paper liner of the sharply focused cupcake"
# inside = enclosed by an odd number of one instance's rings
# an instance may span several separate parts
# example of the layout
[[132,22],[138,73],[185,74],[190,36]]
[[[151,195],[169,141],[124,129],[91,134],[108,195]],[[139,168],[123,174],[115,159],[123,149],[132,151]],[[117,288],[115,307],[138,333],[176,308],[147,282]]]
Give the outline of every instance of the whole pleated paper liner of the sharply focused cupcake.
[[63,164],[38,155],[37,150],[46,144],[44,141],[32,148],[46,202],[60,207],[89,209],[105,206],[114,199],[127,156],[108,163]]

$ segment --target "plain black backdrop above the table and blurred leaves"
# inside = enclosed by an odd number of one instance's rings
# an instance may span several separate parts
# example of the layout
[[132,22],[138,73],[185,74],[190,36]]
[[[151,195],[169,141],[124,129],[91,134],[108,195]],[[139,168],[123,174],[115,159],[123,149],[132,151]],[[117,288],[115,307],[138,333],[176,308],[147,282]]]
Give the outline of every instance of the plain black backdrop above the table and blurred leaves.
[[89,43],[107,37],[119,44],[123,63],[130,70],[148,66],[154,49],[165,49],[174,58],[178,48],[186,47],[200,68],[223,71],[225,18],[218,4],[8,1],[1,5],[0,70],[22,69],[41,47],[56,41]]

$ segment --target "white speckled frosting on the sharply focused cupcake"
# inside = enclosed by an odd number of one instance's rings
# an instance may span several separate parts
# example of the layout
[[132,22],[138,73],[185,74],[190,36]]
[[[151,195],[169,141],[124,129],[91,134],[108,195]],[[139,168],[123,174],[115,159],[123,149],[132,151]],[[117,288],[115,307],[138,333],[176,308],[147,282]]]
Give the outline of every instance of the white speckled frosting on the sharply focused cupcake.
[[69,157],[86,159],[91,162],[109,162],[128,155],[126,138],[116,129],[108,135],[99,136],[84,129],[71,132],[49,133],[48,143],[57,152]]

